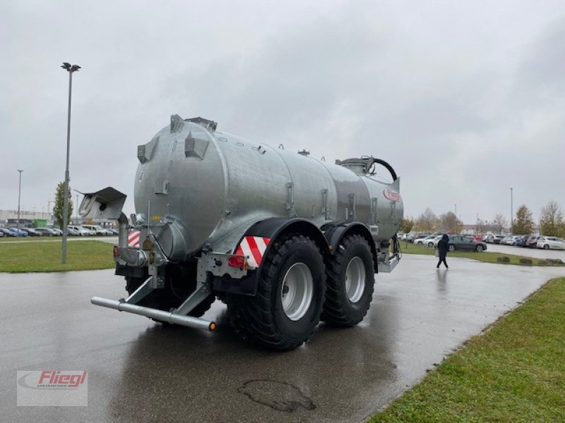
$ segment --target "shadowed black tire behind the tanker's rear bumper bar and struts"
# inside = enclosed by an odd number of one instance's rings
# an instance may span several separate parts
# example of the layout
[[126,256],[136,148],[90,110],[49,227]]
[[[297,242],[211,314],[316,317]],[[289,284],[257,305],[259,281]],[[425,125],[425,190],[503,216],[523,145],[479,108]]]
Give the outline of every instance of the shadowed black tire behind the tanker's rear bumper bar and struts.
[[[169,266],[166,272],[165,288],[153,290],[153,292],[149,293],[138,302],[138,305],[165,311],[179,307],[196,289],[196,273],[193,274],[193,268],[194,272],[196,272],[196,266]],[[126,276],[126,291],[128,294],[131,295],[133,291],[139,288],[147,277],[148,276],[145,276],[145,278],[131,278]],[[194,307],[188,315],[201,317],[212,307],[214,301],[215,295],[208,295],[208,297]],[[162,321],[159,322],[163,323]]]

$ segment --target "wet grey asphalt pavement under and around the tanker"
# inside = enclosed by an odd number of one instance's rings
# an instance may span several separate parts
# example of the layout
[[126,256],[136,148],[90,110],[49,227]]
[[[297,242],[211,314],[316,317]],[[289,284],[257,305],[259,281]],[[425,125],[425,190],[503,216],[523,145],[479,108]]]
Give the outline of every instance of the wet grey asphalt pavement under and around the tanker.
[[[320,325],[289,353],[239,340],[215,302],[215,333],[167,328],[90,304],[124,296],[112,271],[0,274],[2,422],[360,422],[470,336],[565,269],[405,255],[376,277],[352,329]],[[16,371],[88,370],[88,407],[17,407]]]

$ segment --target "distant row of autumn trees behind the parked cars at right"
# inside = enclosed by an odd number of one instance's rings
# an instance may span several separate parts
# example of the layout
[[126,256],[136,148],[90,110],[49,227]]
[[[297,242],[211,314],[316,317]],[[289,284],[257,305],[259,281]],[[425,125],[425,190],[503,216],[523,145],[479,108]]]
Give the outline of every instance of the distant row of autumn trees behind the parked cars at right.
[[[539,225],[541,235],[565,238],[564,212],[557,202],[551,200],[542,207]],[[502,233],[502,231],[510,231],[516,235],[528,235],[533,233],[534,227],[535,221],[532,212],[525,204],[522,204],[516,210],[516,217],[513,222],[506,220],[504,214],[498,213],[492,221],[477,219],[476,232]],[[459,233],[462,229],[463,222],[457,218],[455,213],[446,212],[437,216],[429,208],[416,219],[405,217],[400,226],[400,231],[405,233],[410,231]]]

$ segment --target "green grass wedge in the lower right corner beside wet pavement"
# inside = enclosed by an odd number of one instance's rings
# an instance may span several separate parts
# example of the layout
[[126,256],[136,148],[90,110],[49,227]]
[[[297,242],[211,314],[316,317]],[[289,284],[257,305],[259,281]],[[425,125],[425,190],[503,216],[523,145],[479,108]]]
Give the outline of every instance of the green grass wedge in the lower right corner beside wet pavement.
[[565,422],[564,340],[559,278],[369,422]]

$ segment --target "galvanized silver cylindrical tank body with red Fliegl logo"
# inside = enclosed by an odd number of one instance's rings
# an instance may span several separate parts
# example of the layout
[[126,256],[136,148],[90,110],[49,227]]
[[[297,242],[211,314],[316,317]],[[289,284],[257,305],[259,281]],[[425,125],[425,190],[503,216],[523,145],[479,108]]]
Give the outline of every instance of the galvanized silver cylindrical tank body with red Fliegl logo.
[[398,180],[383,183],[178,116],[138,147],[138,159],[136,213],[172,260],[204,245],[232,252],[252,224],[269,217],[301,217],[318,227],[360,221],[379,241],[396,233],[403,216]]

